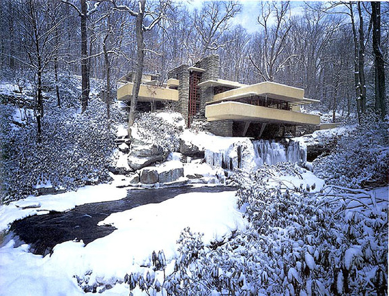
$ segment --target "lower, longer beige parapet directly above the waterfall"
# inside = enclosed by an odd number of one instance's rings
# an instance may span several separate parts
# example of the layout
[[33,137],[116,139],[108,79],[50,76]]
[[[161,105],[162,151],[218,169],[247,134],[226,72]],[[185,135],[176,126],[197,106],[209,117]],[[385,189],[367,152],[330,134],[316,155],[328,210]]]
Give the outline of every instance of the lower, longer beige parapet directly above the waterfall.
[[299,113],[289,110],[280,110],[262,106],[253,106],[235,101],[226,101],[206,106],[208,121],[236,120],[246,122],[274,122],[298,125],[318,125],[319,115]]

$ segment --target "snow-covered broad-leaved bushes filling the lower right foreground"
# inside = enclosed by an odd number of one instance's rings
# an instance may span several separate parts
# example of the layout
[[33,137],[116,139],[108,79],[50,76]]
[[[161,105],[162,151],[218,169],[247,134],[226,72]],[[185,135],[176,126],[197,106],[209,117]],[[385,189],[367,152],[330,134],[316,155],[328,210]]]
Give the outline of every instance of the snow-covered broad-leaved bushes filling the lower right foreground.
[[[363,190],[288,189],[275,177],[299,176],[299,170],[280,164],[238,171],[247,230],[204,245],[200,233],[185,229],[174,270],[147,291],[158,286],[163,295],[386,295],[387,202]],[[158,279],[158,271],[151,272],[149,278]],[[140,274],[135,278],[130,290],[144,282]]]

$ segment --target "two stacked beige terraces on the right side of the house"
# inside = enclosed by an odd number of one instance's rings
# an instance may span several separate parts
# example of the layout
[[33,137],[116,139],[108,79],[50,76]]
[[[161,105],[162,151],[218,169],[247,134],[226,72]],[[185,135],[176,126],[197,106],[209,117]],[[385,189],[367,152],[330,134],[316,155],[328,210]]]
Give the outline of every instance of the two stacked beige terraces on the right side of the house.
[[320,116],[299,112],[299,105],[315,102],[318,101],[305,98],[301,88],[265,81],[215,94],[213,100],[206,103],[206,118],[210,122],[317,125]]

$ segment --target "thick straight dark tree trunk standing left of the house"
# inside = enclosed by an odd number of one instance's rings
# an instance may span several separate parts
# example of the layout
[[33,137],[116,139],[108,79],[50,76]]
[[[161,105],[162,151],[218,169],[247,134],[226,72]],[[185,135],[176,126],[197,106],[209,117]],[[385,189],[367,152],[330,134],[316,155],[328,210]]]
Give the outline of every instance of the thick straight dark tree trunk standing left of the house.
[[87,5],[86,0],[81,0],[81,113],[84,113],[89,101],[89,72],[88,72],[88,50],[87,50]]

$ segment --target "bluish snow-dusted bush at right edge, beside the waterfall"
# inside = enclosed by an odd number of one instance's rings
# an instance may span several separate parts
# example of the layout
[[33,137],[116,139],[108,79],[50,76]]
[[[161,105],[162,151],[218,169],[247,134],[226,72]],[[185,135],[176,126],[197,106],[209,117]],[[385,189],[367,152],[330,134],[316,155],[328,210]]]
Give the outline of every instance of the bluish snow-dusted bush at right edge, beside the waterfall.
[[342,137],[333,154],[313,162],[314,173],[327,183],[364,188],[388,183],[388,120],[374,115]]

